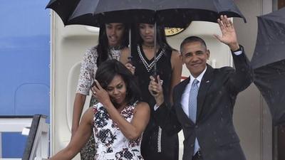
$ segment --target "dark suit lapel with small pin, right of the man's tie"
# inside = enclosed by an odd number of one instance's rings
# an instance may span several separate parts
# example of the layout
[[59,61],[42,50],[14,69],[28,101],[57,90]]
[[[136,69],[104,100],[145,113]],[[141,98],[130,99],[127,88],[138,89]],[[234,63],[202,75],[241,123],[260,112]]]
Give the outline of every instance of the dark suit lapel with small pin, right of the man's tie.
[[207,70],[204,73],[204,76],[202,78],[202,82],[199,86],[199,91],[198,91],[198,95],[197,95],[197,121],[201,117],[204,100],[206,98],[209,86],[212,84],[213,71],[214,71],[214,69],[210,65],[207,65]]

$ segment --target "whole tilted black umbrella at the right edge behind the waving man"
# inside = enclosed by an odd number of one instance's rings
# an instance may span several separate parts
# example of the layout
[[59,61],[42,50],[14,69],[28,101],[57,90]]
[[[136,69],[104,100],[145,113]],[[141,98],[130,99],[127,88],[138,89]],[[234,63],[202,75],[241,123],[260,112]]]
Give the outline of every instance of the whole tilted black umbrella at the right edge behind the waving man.
[[259,16],[252,56],[254,84],[259,88],[274,125],[285,123],[285,8]]

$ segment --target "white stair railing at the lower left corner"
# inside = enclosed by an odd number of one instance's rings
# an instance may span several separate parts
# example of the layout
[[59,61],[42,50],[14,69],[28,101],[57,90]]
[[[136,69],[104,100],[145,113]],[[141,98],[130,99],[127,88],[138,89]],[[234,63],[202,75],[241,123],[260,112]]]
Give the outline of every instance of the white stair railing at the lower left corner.
[[[44,160],[49,155],[49,125],[46,124],[46,116],[36,114],[34,116],[0,116],[0,144],[1,132],[21,132],[28,135],[23,160]],[[2,159],[0,145],[0,160]]]

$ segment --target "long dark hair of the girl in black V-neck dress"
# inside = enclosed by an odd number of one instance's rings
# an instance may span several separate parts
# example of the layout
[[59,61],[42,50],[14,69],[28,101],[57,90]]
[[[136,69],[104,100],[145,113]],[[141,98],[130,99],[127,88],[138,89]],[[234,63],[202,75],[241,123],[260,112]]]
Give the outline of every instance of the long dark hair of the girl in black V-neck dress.
[[[137,44],[142,44],[143,40],[140,37],[140,23],[135,24],[132,26],[132,43],[133,43],[133,49],[135,49]],[[156,39],[157,44],[162,47],[165,46],[167,49],[174,50],[166,41],[165,36],[165,28],[163,26],[156,26]]]

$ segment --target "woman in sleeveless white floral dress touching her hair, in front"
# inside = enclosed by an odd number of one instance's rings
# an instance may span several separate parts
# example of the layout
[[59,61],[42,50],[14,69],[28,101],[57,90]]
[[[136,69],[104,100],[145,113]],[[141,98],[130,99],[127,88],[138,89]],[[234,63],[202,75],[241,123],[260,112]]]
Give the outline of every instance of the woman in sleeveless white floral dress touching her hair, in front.
[[118,60],[108,60],[99,66],[95,79],[92,90],[98,103],[85,112],[71,142],[51,160],[72,159],[92,130],[97,151],[94,159],[143,159],[140,143],[150,119],[150,107],[140,102],[134,75]]

